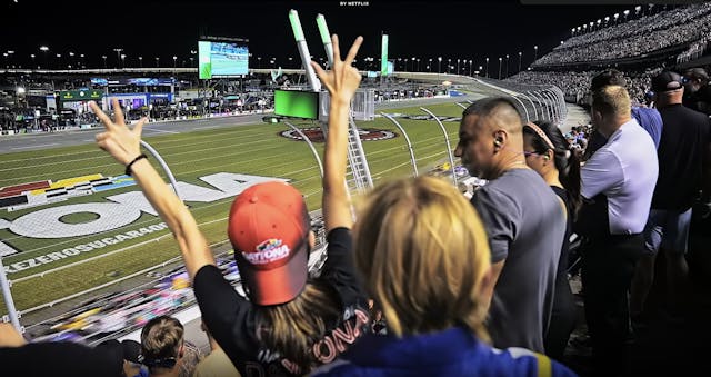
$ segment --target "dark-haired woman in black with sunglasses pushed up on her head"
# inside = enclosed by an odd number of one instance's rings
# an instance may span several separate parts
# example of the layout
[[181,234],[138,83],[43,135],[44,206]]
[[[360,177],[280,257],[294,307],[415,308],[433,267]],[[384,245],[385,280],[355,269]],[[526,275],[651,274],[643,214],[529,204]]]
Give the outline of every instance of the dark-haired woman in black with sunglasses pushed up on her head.
[[560,129],[547,121],[523,126],[525,163],[535,170],[565,206],[568,226],[555,275],[553,311],[543,335],[545,354],[562,360],[570,334],[575,328],[577,309],[568,282],[568,258],[572,224],[582,198],[580,196],[580,160]]

